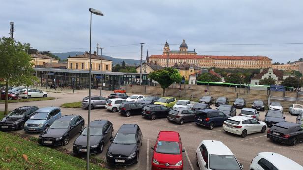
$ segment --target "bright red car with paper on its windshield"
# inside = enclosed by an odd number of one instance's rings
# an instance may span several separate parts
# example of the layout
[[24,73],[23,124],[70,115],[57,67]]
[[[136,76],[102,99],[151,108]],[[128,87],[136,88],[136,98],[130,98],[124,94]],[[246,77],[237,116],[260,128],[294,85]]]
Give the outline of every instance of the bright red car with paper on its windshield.
[[161,131],[153,149],[152,170],[183,170],[182,143],[178,132]]

